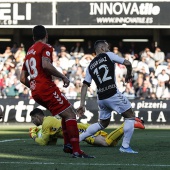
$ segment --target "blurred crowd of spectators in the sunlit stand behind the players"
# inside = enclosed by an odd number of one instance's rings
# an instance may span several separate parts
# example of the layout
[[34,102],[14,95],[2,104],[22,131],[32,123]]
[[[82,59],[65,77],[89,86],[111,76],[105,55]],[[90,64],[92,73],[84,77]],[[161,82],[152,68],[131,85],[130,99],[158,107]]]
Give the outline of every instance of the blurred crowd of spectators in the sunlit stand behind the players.
[[[68,88],[63,88],[63,82],[54,77],[55,84],[68,99],[79,99],[86,68],[95,57],[92,42],[87,41],[85,45],[77,42],[67,49],[56,41],[53,49],[54,67],[71,81]],[[116,65],[117,87],[125,96],[129,99],[170,99],[170,57],[166,57],[160,47],[146,47],[136,52],[133,43],[130,49],[125,49],[121,42],[117,46],[110,45],[110,51],[132,63],[132,83],[125,83],[126,68]],[[24,44],[18,46],[16,43],[0,54],[0,98],[31,98],[30,90],[19,81],[25,55]],[[87,97],[95,96],[96,86],[92,82]]]

